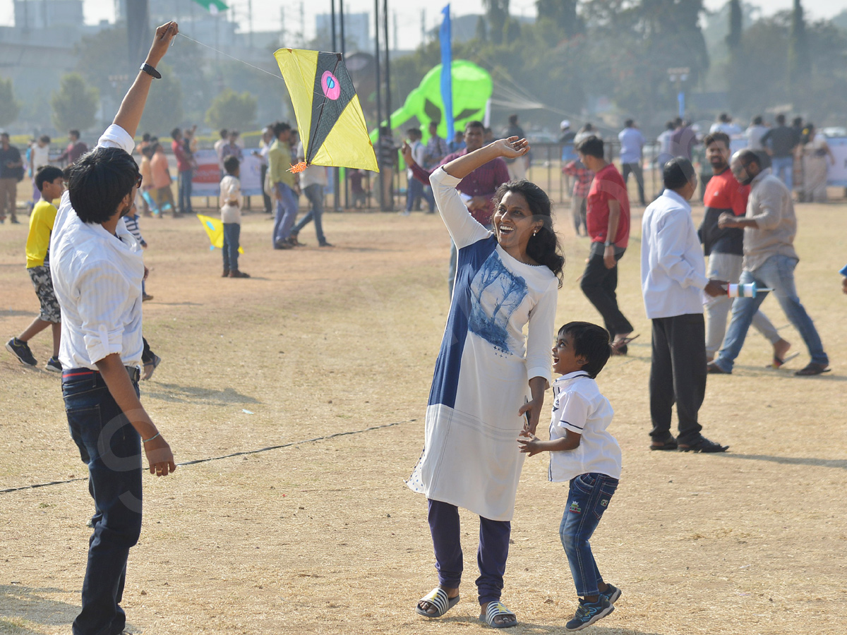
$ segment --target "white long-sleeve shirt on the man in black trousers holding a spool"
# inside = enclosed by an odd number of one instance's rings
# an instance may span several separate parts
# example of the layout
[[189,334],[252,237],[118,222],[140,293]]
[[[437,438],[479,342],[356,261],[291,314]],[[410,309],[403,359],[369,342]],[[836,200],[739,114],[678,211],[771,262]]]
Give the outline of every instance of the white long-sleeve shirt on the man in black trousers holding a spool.
[[641,292],[647,317],[702,313],[706,284],[691,206],[675,191],[665,190],[641,221]]

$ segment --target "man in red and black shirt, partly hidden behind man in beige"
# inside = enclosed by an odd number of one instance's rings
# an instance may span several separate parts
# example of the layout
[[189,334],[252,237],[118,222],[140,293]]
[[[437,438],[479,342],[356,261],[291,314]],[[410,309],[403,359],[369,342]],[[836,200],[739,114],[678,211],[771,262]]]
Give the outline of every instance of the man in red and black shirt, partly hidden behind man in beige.
[[[741,277],[741,261],[744,256],[744,229],[717,226],[717,218],[722,213],[744,216],[747,212],[747,197],[750,185],[741,185],[729,169],[729,137],[722,132],[714,132],[703,137],[706,159],[711,164],[713,176],[706,185],[703,202],[706,215],[700,224],[698,234],[703,243],[703,251],[709,257],[706,275],[712,280],[726,280],[736,284]],[[727,330],[727,314],[733,299],[728,295],[710,297],[706,301],[706,361],[711,362],[721,348],[723,336]],[[773,346],[773,365],[782,366],[785,354],[791,345],[783,340],[767,316],[760,311],[753,316],[753,326],[770,340]]]

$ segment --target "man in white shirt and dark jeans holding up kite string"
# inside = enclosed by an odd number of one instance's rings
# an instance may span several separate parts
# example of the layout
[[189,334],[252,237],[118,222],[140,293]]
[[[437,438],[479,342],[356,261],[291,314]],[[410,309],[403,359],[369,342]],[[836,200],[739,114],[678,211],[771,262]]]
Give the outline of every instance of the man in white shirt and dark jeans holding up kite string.
[[88,464],[96,512],[74,635],[124,630],[126,560],[141,533],[141,447],[167,476],[174,455],[138,399],[141,246],[127,231],[141,185],[130,156],[156,65],[176,36],[158,27],[147,60],[97,148],[71,168],[53,226],[53,287],[62,310],[62,393],[71,437]]

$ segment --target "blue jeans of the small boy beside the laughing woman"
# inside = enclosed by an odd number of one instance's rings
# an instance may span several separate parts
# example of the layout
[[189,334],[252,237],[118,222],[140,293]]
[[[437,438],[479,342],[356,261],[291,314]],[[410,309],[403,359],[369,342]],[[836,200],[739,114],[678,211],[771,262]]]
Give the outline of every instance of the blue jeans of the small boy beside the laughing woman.
[[597,595],[603,577],[591,553],[589,538],[594,533],[603,512],[617,489],[617,478],[591,472],[571,479],[567,507],[559,526],[559,536],[571,566],[577,595]]

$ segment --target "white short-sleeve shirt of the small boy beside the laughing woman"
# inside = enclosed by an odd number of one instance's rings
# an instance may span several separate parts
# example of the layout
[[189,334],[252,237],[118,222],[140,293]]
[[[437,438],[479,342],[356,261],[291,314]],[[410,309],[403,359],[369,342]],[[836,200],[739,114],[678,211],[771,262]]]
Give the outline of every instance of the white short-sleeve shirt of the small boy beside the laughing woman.
[[569,481],[589,472],[621,478],[621,447],[606,432],[613,415],[612,404],[583,371],[567,373],[553,382],[550,439],[562,439],[565,430],[582,438],[573,450],[550,453],[547,476],[551,481]]

